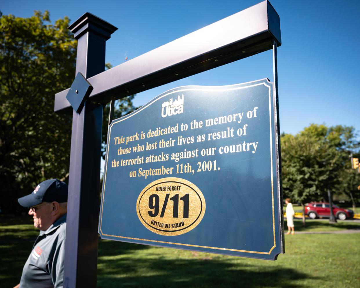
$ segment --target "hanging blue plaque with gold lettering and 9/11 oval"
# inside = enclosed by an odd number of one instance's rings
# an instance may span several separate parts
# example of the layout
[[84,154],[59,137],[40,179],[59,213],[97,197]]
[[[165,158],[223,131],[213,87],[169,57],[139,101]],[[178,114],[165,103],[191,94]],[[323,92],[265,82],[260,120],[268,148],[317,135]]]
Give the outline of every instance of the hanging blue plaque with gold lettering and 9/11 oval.
[[275,260],[283,252],[268,79],[169,90],[109,126],[103,239]]

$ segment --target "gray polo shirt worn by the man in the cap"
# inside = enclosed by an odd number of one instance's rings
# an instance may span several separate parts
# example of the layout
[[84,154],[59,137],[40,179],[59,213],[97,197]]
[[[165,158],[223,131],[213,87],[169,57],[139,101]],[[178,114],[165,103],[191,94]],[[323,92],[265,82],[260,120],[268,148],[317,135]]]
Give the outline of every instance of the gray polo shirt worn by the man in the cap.
[[63,287],[66,214],[40,231],[20,280],[20,288]]

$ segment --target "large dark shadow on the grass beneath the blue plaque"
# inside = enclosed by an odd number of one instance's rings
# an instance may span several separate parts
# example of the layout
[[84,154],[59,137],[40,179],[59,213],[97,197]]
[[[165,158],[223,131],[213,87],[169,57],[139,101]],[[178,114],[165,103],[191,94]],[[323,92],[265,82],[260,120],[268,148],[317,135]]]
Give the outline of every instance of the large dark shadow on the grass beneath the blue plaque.
[[[290,287],[299,280],[315,279],[295,269],[241,263],[235,257],[169,259],[155,254],[141,257],[132,252],[148,246],[131,243],[100,244],[98,287]],[[162,249],[162,248],[159,248]],[[148,251],[149,252],[149,251]],[[193,252],[195,255],[202,253]],[[117,257],[121,255],[121,257]],[[104,256],[104,257],[103,257]],[[149,254],[147,254],[149,256]],[[103,259],[102,259],[103,258]],[[265,260],[264,260],[265,261]]]

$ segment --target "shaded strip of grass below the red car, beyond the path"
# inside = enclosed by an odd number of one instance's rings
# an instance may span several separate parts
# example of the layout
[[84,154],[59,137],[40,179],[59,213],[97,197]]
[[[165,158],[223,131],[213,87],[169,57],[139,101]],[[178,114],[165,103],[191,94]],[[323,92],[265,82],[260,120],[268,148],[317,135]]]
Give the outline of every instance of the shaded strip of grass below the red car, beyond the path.
[[[301,219],[294,219],[295,231],[327,231],[327,230],[347,230],[347,229],[360,229],[360,224],[358,223],[349,223],[349,222],[337,222],[335,224],[330,224],[329,220],[309,220],[306,219],[306,228],[302,226]],[[285,230],[286,230],[286,220],[285,220]],[[334,229],[336,228],[336,229]]]

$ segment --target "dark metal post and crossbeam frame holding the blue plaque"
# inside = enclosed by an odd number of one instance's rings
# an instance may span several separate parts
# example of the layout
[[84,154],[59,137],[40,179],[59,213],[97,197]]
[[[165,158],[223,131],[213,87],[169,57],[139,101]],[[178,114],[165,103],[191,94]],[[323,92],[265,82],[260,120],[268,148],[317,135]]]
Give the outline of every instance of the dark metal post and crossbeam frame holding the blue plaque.
[[[105,42],[117,28],[85,13],[69,29],[78,40],[76,75],[82,73],[93,90],[79,112],[66,98],[70,89],[55,95],[54,111],[73,114],[64,286],[96,287],[100,157],[89,156],[100,156],[103,105],[273,49],[275,109],[279,115],[280,19],[269,1],[263,1],[107,71],[104,71]],[[275,121],[279,167],[276,184],[283,217],[279,118]],[[282,247],[284,251],[284,243]]]

